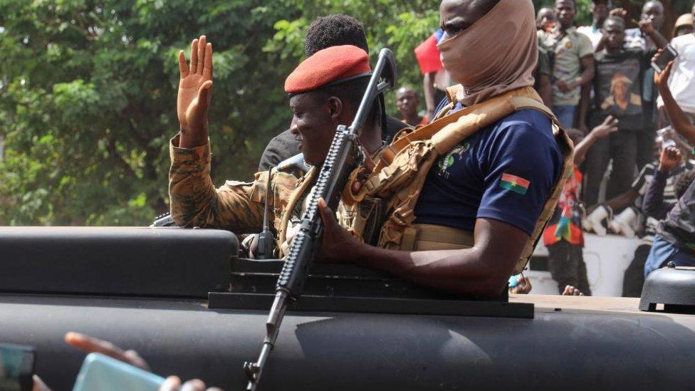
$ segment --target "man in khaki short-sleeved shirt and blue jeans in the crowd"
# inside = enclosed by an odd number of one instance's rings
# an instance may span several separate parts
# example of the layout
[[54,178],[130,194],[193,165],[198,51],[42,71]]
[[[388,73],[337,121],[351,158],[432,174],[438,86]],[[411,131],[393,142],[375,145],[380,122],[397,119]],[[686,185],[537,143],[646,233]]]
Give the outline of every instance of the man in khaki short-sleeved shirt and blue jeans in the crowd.
[[[594,49],[589,38],[573,26],[575,13],[574,0],[556,0],[558,26],[538,32],[540,45],[554,53],[553,113],[567,129],[574,126],[582,85],[594,77]],[[585,129],[581,120],[578,126]]]

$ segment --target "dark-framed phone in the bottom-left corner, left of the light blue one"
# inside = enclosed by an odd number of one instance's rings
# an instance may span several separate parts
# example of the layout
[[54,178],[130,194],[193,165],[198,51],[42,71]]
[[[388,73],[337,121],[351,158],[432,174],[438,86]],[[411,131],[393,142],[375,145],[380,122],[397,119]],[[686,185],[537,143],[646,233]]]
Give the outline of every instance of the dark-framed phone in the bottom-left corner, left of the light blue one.
[[0,344],[0,390],[31,391],[35,355],[31,346]]

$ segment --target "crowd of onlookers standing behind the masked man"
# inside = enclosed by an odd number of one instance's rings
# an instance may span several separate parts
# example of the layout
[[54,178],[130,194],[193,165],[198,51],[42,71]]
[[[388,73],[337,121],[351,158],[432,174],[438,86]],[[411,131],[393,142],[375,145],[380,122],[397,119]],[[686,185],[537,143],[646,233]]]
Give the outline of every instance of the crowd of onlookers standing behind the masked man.
[[[650,256],[653,244],[664,241],[657,234],[659,221],[685,192],[695,167],[684,124],[680,129],[672,124],[668,107],[677,105],[688,123],[695,121],[693,14],[679,16],[668,34],[678,53],[673,70],[664,71],[670,77],[657,74],[655,79],[652,58],[669,45],[660,32],[661,1],[646,1],[642,13],[631,18],[625,9],[614,8],[612,0],[593,0],[590,26],[575,26],[576,11],[575,1],[557,0],[536,14],[535,88],[575,143],[573,176],[543,234],[548,269],[560,293],[571,287],[590,294],[583,232],[639,237],[641,244],[623,281],[623,296],[636,297],[650,271],[674,258],[680,265],[695,264],[691,244],[669,235],[683,253],[674,257],[655,250]],[[636,27],[626,28],[629,23]],[[443,67],[427,58],[427,48],[440,38],[438,31],[415,50],[424,75],[426,109],[418,113],[412,88],[397,93],[397,108],[409,125],[432,118],[435,100],[430,97],[443,95],[450,83]],[[674,99],[665,100],[664,90]]]

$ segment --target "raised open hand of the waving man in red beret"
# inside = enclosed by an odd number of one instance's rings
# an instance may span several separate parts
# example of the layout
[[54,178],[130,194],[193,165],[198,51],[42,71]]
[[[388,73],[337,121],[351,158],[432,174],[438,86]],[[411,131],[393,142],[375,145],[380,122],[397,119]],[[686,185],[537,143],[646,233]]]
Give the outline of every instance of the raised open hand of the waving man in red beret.
[[192,148],[207,142],[207,112],[212,96],[212,44],[205,36],[191,43],[191,63],[179,51],[179,93],[176,111],[181,125],[179,147]]

